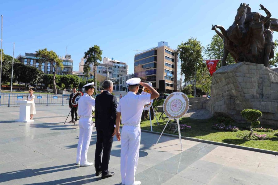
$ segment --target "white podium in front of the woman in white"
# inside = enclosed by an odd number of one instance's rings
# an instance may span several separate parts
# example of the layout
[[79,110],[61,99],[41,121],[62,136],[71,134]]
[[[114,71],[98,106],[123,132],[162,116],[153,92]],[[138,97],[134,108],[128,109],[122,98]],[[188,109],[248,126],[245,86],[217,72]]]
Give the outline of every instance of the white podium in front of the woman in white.
[[15,103],[19,103],[19,119],[15,120],[16,122],[32,122],[34,120],[30,120],[30,110],[31,110],[31,105],[32,101],[20,101],[17,100]]

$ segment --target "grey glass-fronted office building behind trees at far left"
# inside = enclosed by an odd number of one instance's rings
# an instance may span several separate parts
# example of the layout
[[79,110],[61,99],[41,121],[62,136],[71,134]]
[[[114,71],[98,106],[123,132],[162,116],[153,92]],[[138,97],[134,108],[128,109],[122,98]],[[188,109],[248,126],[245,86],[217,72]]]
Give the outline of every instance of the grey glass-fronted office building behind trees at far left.
[[[45,74],[53,74],[54,72],[54,68],[49,62],[43,62],[41,63],[40,66],[39,58],[36,57],[36,53],[25,53],[25,55],[19,54],[16,57],[16,59],[27,66],[38,68],[39,70],[43,71]],[[71,55],[65,55],[65,57],[59,56],[59,59],[63,60],[64,68],[61,69],[61,67],[57,66],[56,74],[57,75],[72,74],[73,60],[71,59]]]

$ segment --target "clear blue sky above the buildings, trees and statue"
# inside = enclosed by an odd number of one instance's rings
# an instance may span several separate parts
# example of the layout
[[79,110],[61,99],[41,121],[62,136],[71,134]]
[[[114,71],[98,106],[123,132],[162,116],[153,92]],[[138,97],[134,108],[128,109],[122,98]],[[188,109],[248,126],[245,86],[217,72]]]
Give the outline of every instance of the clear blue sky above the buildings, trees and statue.
[[[272,18],[278,18],[278,1],[246,0],[252,12],[259,12],[263,2]],[[47,48],[57,55],[70,54],[74,71],[89,47],[98,45],[102,57],[114,58],[129,65],[133,73],[137,51],[156,47],[160,41],[176,49],[190,37],[203,46],[215,34],[212,24],[228,29],[234,21],[242,1],[212,0],[41,0],[5,1],[0,4],[3,15],[3,43],[5,54],[15,57],[24,52],[35,53]],[[278,33],[274,38],[278,39]]]

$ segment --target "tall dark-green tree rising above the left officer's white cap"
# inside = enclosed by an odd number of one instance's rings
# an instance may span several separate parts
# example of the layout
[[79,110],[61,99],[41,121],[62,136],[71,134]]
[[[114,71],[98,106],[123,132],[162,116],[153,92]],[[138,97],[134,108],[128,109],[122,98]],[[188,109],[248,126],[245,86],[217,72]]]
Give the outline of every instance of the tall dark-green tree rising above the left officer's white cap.
[[84,64],[83,70],[87,77],[90,71],[90,64],[94,66],[95,85],[96,85],[96,70],[97,70],[96,67],[99,64],[98,61],[102,60],[101,55],[102,55],[102,50],[100,50],[100,47],[98,45],[94,45],[93,47],[90,47],[88,51],[84,52],[84,58],[86,58],[86,62]]

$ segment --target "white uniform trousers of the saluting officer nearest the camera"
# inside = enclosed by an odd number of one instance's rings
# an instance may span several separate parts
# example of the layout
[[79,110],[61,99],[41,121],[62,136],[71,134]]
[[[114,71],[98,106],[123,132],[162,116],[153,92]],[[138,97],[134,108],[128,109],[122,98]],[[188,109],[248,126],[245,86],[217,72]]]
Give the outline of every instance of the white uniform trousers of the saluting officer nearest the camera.
[[121,133],[121,178],[122,184],[132,185],[139,159],[141,128],[124,125]]

